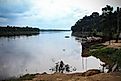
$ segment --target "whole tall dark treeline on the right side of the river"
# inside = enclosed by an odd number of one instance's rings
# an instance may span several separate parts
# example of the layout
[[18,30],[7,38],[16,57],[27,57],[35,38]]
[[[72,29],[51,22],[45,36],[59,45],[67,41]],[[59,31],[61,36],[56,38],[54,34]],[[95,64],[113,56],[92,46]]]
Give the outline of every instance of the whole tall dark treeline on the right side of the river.
[[117,7],[113,11],[113,7],[106,5],[102,8],[102,14],[93,12],[90,16],[79,19],[74,26],[71,27],[74,36],[103,36],[108,39],[119,39],[121,33],[121,8]]

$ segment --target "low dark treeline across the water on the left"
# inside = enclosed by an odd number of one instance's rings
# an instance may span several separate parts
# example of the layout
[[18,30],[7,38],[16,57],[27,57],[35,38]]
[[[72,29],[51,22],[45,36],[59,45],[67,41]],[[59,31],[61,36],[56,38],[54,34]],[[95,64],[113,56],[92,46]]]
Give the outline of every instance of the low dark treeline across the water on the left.
[[15,27],[9,26],[6,27],[0,26],[0,36],[18,36],[18,35],[37,35],[39,34],[39,28],[32,27]]

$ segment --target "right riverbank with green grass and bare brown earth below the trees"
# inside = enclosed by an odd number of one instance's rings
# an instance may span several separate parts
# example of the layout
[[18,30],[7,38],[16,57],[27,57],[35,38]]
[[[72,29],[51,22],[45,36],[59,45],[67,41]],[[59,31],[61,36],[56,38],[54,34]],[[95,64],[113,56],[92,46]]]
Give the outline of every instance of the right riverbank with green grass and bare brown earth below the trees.
[[115,40],[101,42],[94,37],[82,43],[82,56],[94,56],[99,58],[104,64],[102,66],[107,68],[107,72],[121,72],[121,40],[115,43]]

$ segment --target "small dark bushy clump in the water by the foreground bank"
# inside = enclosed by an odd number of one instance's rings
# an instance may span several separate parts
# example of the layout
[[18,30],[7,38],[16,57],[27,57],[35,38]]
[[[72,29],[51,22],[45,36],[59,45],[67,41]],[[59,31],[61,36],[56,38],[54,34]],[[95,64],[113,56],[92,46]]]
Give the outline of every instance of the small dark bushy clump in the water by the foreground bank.
[[65,65],[63,61],[56,63],[56,66],[55,66],[56,72],[63,73],[64,70],[66,72],[70,72],[70,66],[68,64]]

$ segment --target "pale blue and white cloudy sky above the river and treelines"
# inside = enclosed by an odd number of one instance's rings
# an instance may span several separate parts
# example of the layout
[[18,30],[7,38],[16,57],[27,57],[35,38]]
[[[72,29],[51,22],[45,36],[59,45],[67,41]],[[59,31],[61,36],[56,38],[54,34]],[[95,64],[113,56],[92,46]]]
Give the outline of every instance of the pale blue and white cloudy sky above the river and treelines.
[[30,26],[40,29],[70,29],[106,5],[121,7],[120,0],[0,0],[1,26]]

